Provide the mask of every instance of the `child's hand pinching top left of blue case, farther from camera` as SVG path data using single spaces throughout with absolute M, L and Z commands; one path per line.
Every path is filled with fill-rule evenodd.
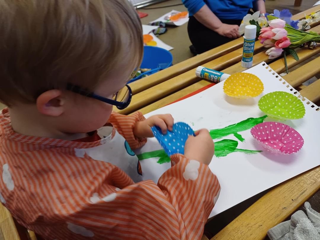
M 172 131 L 173 118 L 171 114 L 154 115 L 144 121 L 137 122 L 133 129 L 133 134 L 136 137 L 153 137 L 151 127 L 157 126 L 161 128 L 162 133 L 166 134 L 167 129 Z

